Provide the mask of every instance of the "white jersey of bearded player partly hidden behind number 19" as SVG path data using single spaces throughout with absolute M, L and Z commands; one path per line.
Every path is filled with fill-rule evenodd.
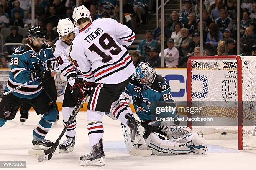
M 79 34 L 79 29 L 74 28 L 75 34 Z M 57 58 L 59 63 L 59 70 L 64 75 L 66 80 L 69 80 L 70 77 L 83 78 L 82 73 L 74 67 L 69 61 L 69 49 L 70 46 L 63 42 L 61 39 L 57 40 L 52 48 L 54 56 Z M 92 75 L 93 77 L 93 75 Z

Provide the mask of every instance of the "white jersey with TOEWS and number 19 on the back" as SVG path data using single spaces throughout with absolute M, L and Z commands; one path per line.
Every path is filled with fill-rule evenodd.
M 70 57 L 86 81 L 92 82 L 93 73 L 97 83 L 118 84 L 135 72 L 126 49 L 134 39 L 134 32 L 127 26 L 99 18 L 79 30 Z

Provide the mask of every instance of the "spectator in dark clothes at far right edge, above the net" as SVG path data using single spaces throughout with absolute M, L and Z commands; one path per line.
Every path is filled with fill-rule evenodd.
M 245 34 L 246 36 L 242 37 L 240 42 L 241 53 L 245 53 L 246 55 L 251 55 L 252 46 L 256 44 L 255 38 L 252 37 L 253 29 L 251 29 L 250 27 L 247 27 Z

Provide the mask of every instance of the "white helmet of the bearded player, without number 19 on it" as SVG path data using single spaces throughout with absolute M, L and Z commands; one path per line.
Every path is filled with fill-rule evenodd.
M 59 20 L 57 32 L 59 36 L 69 35 L 71 32 L 74 32 L 74 25 L 72 21 L 69 18 Z

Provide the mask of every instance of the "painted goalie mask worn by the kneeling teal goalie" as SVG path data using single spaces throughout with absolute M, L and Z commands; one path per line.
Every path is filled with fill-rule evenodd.
M 136 80 L 146 90 L 148 89 L 156 77 L 156 69 L 147 62 L 141 62 L 135 71 Z

